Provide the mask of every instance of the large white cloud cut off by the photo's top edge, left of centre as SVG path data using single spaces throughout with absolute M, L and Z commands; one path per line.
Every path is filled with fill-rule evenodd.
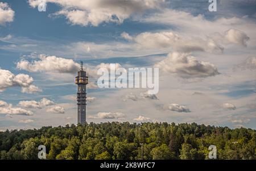
M 93 25 L 105 23 L 122 23 L 131 15 L 142 13 L 144 10 L 159 8 L 163 0 L 47 0 L 56 3 L 62 9 L 51 16 L 64 15 L 73 25 Z M 39 5 L 40 1 L 29 0 L 31 7 Z

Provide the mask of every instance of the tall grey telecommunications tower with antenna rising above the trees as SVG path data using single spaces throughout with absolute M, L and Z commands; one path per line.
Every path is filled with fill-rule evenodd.
M 77 123 L 84 125 L 86 122 L 86 84 L 88 84 L 88 76 L 83 69 L 81 61 L 81 69 L 77 72 Z

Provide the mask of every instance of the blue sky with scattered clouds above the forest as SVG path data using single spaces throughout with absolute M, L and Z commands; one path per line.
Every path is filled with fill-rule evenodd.
M 39 1 L 0 1 L 0 130 L 76 123 L 80 60 L 88 122 L 256 128 L 256 1 L 217 1 L 216 12 L 204 0 L 69 2 L 39 12 Z M 158 100 L 97 88 L 108 63 L 159 67 Z

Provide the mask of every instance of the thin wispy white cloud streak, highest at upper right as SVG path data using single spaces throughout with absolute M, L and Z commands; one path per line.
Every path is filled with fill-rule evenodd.
M 145 15 L 143 18 L 137 18 L 140 22 L 146 23 L 161 23 L 165 25 L 172 25 L 189 35 L 209 35 L 216 31 L 227 31 L 230 28 L 252 28 L 255 27 L 253 20 L 247 20 L 247 17 L 225 18 L 218 17 L 214 20 L 208 20 L 205 15 L 194 15 L 189 12 L 166 8 L 160 12 L 152 15 Z M 249 25 L 246 25 L 249 24 Z M 244 27 L 245 26 L 245 27 Z M 204 29 L 202 29 L 204 27 Z M 242 29 L 243 30 L 243 29 Z M 199 32 L 200 31 L 200 32 Z

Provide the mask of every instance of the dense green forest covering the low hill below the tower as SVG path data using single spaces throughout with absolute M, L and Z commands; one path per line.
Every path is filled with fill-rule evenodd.
M 0 159 L 256 159 L 256 131 L 196 123 L 106 122 L 0 132 Z

